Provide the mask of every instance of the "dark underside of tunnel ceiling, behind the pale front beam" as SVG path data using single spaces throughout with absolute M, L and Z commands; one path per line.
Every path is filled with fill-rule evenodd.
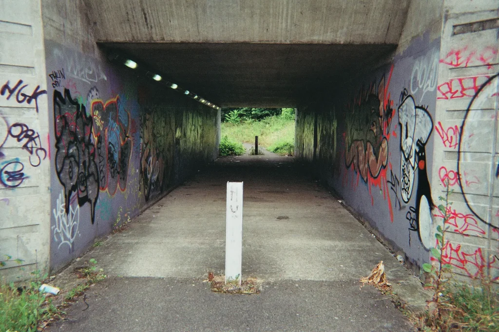
M 394 45 L 105 43 L 222 107 L 293 107 Z

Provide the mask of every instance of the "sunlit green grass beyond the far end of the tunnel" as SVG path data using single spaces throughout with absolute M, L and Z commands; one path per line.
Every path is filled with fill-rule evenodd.
M 282 116 L 272 116 L 261 121 L 246 121 L 240 124 L 224 122 L 221 124 L 222 137 L 241 143 L 254 143 L 258 136 L 258 145 L 265 148 L 278 143 L 294 142 L 294 120 Z

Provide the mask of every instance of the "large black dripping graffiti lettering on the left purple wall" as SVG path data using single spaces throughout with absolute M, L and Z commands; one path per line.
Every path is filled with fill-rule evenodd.
M 85 106 L 54 90 L 55 171 L 64 187 L 65 211 L 69 214 L 73 193 L 78 205 L 90 204 L 90 219 L 95 220 L 95 206 L 99 197 L 99 172 L 95 162 L 96 149 L 92 142 L 92 118 Z

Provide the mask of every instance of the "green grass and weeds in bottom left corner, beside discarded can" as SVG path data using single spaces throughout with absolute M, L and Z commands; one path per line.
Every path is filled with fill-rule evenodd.
M 0 331 L 36 331 L 40 322 L 59 315 L 52 299 L 39 291 L 47 275 L 40 277 L 39 271 L 32 274 L 34 280 L 27 287 L 0 280 Z

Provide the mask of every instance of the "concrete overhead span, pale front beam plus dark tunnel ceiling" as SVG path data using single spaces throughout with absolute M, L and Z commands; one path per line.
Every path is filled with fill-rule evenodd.
M 293 106 L 392 51 L 409 0 L 83 0 L 98 43 L 219 106 Z

